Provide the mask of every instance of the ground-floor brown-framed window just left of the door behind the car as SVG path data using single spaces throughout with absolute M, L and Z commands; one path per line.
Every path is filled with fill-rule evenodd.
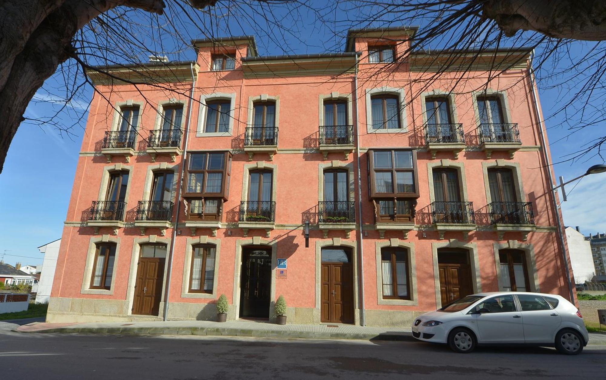
M 401 248 L 384 248 L 381 250 L 384 299 L 410 299 L 407 257 L 408 252 Z

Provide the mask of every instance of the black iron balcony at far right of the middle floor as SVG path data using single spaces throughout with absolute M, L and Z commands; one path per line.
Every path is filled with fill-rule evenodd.
M 490 224 L 503 240 L 505 232 L 521 232 L 522 240 L 536 229 L 534 212 L 530 202 L 493 202 L 488 206 Z

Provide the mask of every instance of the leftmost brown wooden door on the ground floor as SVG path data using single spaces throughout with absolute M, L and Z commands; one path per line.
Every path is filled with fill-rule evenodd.
M 164 260 L 161 257 L 139 258 L 133 314 L 158 315 L 162 298 Z

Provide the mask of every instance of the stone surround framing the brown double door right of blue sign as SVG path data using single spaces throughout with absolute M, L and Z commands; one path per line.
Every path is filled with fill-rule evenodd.
M 358 290 L 358 244 L 355 241 L 342 240 L 341 238 L 316 240 L 316 303 L 313 310 L 313 323 L 320 324 L 321 314 L 321 290 L 322 290 L 322 248 L 323 247 L 348 247 L 351 249 L 351 260 L 353 261 L 353 324 L 360 324 L 359 290 Z

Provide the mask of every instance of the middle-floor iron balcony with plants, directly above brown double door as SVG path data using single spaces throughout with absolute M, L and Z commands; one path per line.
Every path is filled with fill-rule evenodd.
M 318 226 L 324 232 L 324 238 L 330 230 L 345 231 L 345 237 L 349 238 L 351 231 L 356 229 L 355 202 L 318 202 Z

